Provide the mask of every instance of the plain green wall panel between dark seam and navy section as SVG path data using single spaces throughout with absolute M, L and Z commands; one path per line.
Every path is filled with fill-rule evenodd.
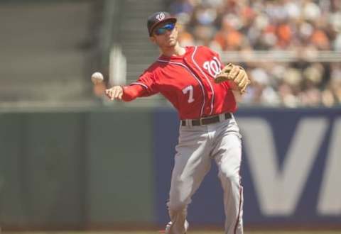
M 92 223 L 151 222 L 153 172 L 148 112 L 91 113 L 89 220 Z

